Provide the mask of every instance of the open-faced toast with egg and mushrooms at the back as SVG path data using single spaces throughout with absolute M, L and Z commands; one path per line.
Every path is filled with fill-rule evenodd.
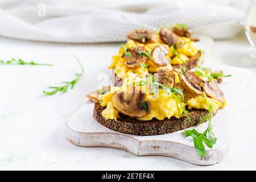
M 146 77 L 159 69 L 186 67 L 192 69 L 203 57 L 203 51 L 194 44 L 198 39 L 184 24 L 176 24 L 159 31 L 134 30 L 127 34 L 127 42 L 113 56 L 110 69 L 114 69 L 114 82 L 131 76 Z M 119 84 L 121 85 L 121 84 Z

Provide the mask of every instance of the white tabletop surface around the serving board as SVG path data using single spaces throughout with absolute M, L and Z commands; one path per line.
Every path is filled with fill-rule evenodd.
M 119 44 L 51 44 L 0 38 L 0 59 L 13 57 L 55 67 L 0 66 L 0 169 L 256 169 L 256 75 L 238 98 L 228 155 L 213 166 L 195 166 L 163 156 L 135 156 L 113 148 L 83 148 L 64 136 L 67 119 L 86 102 L 86 61 L 108 61 Z M 216 61 L 256 72 L 247 60 L 249 43 L 243 34 L 214 43 Z M 42 91 L 73 78 L 80 57 L 85 74 L 65 94 L 44 97 Z

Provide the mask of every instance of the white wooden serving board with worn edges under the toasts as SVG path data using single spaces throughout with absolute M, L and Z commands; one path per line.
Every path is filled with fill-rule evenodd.
M 208 63 L 205 65 L 206 67 L 210 67 L 213 70 L 222 69 L 224 73 L 233 76 L 224 78 L 224 81 L 221 83 L 221 88 L 226 96 L 227 106 L 219 110 L 212 119 L 213 131 L 217 137 L 217 142 L 213 148 L 207 148 L 207 156 L 205 158 L 201 158 L 197 154 L 193 147 L 192 138 L 185 138 L 183 131 L 164 135 L 137 136 L 110 130 L 93 118 L 92 102 L 87 102 L 68 120 L 67 130 L 65 131 L 67 139 L 71 143 L 82 147 L 112 147 L 138 156 L 170 156 L 185 162 L 204 166 L 220 162 L 224 159 L 229 149 L 232 106 L 235 104 L 238 90 L 249 81 L 250 73 L 246 72 L 247 70 L 245 69 L 215 64 L 214 60 L 208 59 L 206 62 Z M 91 82 L 95 84 L 97 81 L 91 80 Z M 93 90 L 88 90 L 88 92 L 91 91 Z M 193 128 L 198 131 L 204 131 L 207 126 L 208 122 Z

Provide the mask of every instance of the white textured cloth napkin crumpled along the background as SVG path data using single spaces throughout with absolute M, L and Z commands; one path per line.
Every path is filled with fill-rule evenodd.
M 135 28 L 157 30 L 178 22 L 213 39 L 231 38 L 241 30 L 242 2 L 1 0 L 0 35 L 44 42 L 122 42 Z

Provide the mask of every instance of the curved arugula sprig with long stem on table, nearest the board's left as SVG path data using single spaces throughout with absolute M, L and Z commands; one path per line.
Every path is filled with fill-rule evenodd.
M 77 81 L 79 81 L 80 77 L 82 76 L 82 74 L 84 73 L 84 67 L 82 67 L 82 64 L 80 63 L 79 59 L 75 56 L 77 62 L 79 63 L 82 72 L 80 74 L 75 73 L 76 78 L 72 81 L 65 81 L 65 82 L 61 82 L 61 84 L 64 84 L 63 86 L 49 86 L 49 89 L 53 89 L 52 91 L 43 91 L 43 93 L 46 96 L 52 96 L 53 94 L 56 94 L 57 92 L 62 92 L 65 93 L 67 92 L 69 86 L 71 87 L 71 89 L 73 89 L 74 85 L 77 83 Z

